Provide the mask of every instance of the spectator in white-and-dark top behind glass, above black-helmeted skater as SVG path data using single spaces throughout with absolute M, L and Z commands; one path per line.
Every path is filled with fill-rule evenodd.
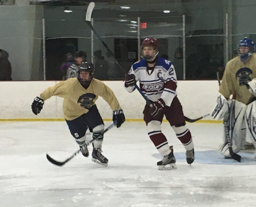
M 87 54 L 84 51 L 75 52 L 74 61 L 72 65 L 67 69 L 67 79 L 68 78 L 76 78 L 77 77 L 77 71 L 79 70 L 79 65 L 82 64 L 83 61 L 86 61 Z

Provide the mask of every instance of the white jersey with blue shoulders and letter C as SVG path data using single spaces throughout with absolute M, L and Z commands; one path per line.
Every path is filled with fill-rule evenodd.
M 177 95 L 177 78 L 173 64 L 166 59 L 158 57 L 155 69 L 151 73 L 147 70 L 147 61 L 140 60 L 130 68 L 129 74 L 134 74 L 136 81 L 140 83 L 143 94 L 151 100 L 163 99 L 170 106 L 173 98 Z M 133 92 L 135 86 L 126 87 L 128 92 Z

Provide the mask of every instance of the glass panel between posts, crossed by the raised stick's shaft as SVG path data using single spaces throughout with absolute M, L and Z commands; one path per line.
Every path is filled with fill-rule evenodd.
M 111 51 L 94 36 L 95 78 L 124 79 L 132 63 L 138 60 L 137 18 L 93 18 L 93 27 Z

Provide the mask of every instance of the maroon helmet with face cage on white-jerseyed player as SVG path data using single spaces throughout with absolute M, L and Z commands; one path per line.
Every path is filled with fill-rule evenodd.
M 151 55 L 145 55 L 143 53 L 143 48 L 144 47 L 153 47 L 153 49 L 155 50 L 155 54 L 152 57 Z M 158 55 L 158 47 L 159 47 L 159 43 L 158 40 L 155 38 L 146 38 L 142 41 L 142 46 L 140 47 L 140 53 L 141 53 L 141 57 L 147 61 L 152 61 L 156 58 L 156 55 Z

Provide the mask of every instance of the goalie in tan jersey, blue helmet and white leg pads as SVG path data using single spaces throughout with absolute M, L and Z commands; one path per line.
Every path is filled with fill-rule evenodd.
M 244 38 L 237 48 L 238 56 L 230 60 L 224 71 L 220 85 L 217 105 L 212 116 L 215 120 L 223 118 L 225 124 L 223 143 L 219 152 L 230 156 L 227 133 L 231 147 L 237 153 L 244 146 L 246 131 L 256 146 L 256 54 L 254 42 Z M 229 97 L 236 94 L 236 100 Z M 256 153 L 255 153 L 256 155 Z

